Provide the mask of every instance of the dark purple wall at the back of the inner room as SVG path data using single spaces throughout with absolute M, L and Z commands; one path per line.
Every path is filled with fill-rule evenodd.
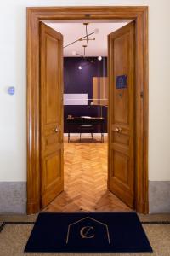
M 94 61 L 94 62 L 91 62 Z M 78 69 L 79 66 L 82 69 Z M 81 57 L 64 58 L 64 93 L 88 93 L 88 99 L 93 98 L 93 77 L 107 76 L 107 59 L 98 61 L 97 58 Z M 69 114 L 72 116 L 100 116 L 100 106 L 64 106 L 64 132 L 68 132 L 66 118 Z M 107 131 L 107 108 L 102 107 L 103 117 L 105 117 L 104 132 Z M 76 127 L 71 132 L 77 132 Z M 94 132 L 98 132 L 96 130 Z

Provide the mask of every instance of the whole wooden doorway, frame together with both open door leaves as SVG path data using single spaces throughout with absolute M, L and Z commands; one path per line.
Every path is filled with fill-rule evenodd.
M 108 12 L 105 13 L 105 10 Z M 65 20 L 65 12 L 67 19 L 71 21 L 73 17 L 79 21 L 84 20 L 85 17 L 91 17 L 92 20 L 127 19 L 128 22 L 134 20 L 122 30 L 111 33 L 108 38 L 108 187 L 130 207 L 138 212 L 147 212 L 147 8 L 115 9 L 111 7 L 103 9 L 28 9 L 27 212 L 39 211 L 41 207 L 49 203 L 51 196 L 59 194 L 63 188 L 63 38 L 54 29 L 48 30 L 48 26 L 44 25 L 43 22 L 46 20 Z M 91 22 L 90 19 L 88 22 Z M 141 43 L 143 43 L 142 47 Z M 121 47 L 119 47 L 120 45 Z M 116 55 L 117 51 L 119 52 L 118 55 Z M 142 52 L 143 55 L 141 55 Z M 56 70 L 51 67 L 56 68 Z M 139 73 L 139 67 L 140 72 L 143 70 L 143 73 Z M 82 68 L 78 69 L 82 71 Z M 53 72 L 54 75 L 50 75 Z M 141 92 L 140 82 L 142 80 L 146 84 L 142 84 L 144 87 Z M 47 84 L 52 86 L 47 87 Z M 54 90 L 56 89 L 54 84 L 58 86 L 57 92 Z M 99 84 L 98 81 L 96 84 Z M 58 102 L 55 107 L 53 105 L 54 99 L 57 99 Z M 95 101 L 99 101 L 99 98 L 94 99 L 92 97 L 90 101 L 89 109 L 95 106 Z M 101 104 L 99 105 L 100 118 L 103 118 L 101 115 L 101 113 L 103 114 L 103 107 Z M 55 120 L 53 119 L 53 112 L 57 113 L 57 111 L 59 113 Z M 81 117 L 86 120 L 89 117 L 92 118 L 86 114 L 82 114 Z M 72 114 L 68 114 L 67 118 L 71 119 Z M 87 138 L 83 138 L 83 140 L 85 139 Z M 102 136 L 101 139 L 103 140 Z M 135 151 L 134 148 L 138 148 L 138 150 Z M 53 170 L 54 166 L 58 166 L 57 173 L 56 169 L 55 174 L 48 172 Z M 86 209 L 82 207 L 82 210 Z M 93 210 L 98 209 L 94 208 Z

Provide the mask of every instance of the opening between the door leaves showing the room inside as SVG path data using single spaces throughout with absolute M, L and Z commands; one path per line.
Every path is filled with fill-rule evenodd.
M 108 188 L 107 38 L 131 21 L 54 21 L 44 24 L 63 37 L 64 187 L 43 211 L 130 211 Z

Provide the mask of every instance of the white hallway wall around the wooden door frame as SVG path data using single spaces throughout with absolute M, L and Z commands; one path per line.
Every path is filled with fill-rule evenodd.
M 26 6 L 148 5 L 150 180 L 170 180 L 169 0 L 5 0 L 0 11 L 0 181 L 26 181 Z M 15 86 L 14 96 L 7 94 Z

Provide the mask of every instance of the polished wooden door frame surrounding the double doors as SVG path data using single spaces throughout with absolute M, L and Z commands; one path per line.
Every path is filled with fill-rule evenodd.
M 148 213 L 148 7 L 88 6 L 27 8 L 27 213 L 40 210 L 41 20 L 135 20 L 135 202 Z

